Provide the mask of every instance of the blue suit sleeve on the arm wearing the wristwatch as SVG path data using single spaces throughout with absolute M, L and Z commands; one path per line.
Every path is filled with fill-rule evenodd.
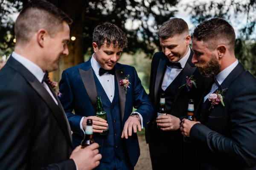
M 136 108 L 136 112 L 140 113 L 143 117 L 143 126 L 145 127 L 153 117 L 154 105 L 145 92 L 135 68 L 134 75 L 134 108 Z

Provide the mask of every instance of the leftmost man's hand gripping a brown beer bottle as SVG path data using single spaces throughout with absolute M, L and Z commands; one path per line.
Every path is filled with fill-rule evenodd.
M 76 147 L 70 155 L 70 159 L 76 162 L 79 170 L 92 170 L 99 165 L 102 155 L 99 154 L 99 144 L 93 143 L 84 149 L 81 145 Z

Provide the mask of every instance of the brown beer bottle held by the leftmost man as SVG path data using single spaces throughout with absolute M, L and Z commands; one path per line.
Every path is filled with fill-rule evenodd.
M 84 139 L 81 142 L 82 148 L 87 147 L 88 145 L 94 143 L 93 139 L 93 120 L 87 119 Z

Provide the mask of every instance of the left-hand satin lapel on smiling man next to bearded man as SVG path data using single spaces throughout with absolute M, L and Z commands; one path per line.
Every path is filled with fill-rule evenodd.
M 166 60 L 160 59 L 158 67 L 157 67 L 156 81 L 155 81 L 155 86 L 154 86 L 154 100 L 155 100 L 154 103 L 155 103 L 155 105 L 158 105 L 158 102 L 159 102 L 159 101 L 157 101 L 157 99 L 158 99 L 157 96 L 161 89 L 161 80 L 162 80 L 162 77 L 164 76 L 165 68 L 166 68 Z

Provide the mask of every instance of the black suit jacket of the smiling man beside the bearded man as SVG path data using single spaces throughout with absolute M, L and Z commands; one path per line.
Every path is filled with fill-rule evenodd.
M 179 84 L 175 89 L 175 96 L 173 97 L 172 102 L 172 109 L 167 111 L 168 114 L 172 114 L 176 117 L 179 117 L 180 119 L 185 118 L 187 115 L 187 108 L 188 108 L 188 102 L 189 99 L 194 99 L 195 102 L 195 108 L 198 105 L 198 102 L 201 98 L 201 95 L 203 93 L 203 82 L 205 79 L 201 77 L 199 74 L 198 68 L 195 67 L 194 64 L 192 64 L 191 59 L 193 57 L 193 51 L 191 50 L 189 59 L 186 62 L 185 67 L 180 72 L 181 76 L 179 79 Z M 151 97 L 152 101 L 154 102 L 154 105 L 157 107 L 159 105 L 160 100 L 160 90 L 163 82 L 163 77 L 166 71 L 166 55 L 163 52 L 157 52 L 154 54 L 152 62 L 151 62 L 151 74 L 150 74 L 150 85 L 149 85 L 149 96 Z M 190 91 L 187 91 L 187 88 L 183 86 L 182 88 L 179 88 L 180 86 L 184 85 L 186 83 L 186 77 L 190 77 L 191 75 L 194 75 L 194 79 L 196 80 L 197 88 L 194 86 L 190 89 Z M 159 135 L 155 134 L 155 131 L 157 129 L 155 119 L 157 117 L 157 111 L 154 113 L 153 120 L 148 123 L 148 126 L 146 127 L 146 142 L 151 142 L 151 139 L 155 140 L 155 136 Z M 181 131 L 174 130 L 169 132 L 163 132 L 166 133 L 165 137 L 166 139 L 173 139 L 173 138 L 179 138 L 178 143 L 183 142 L 183 136 L 181 135 Z M 169 141 L 165 141 L 169 142 Z M 175 142 L 174 144 L 176 144 Z M 175 146 L 175 145 L 173 145 Z

